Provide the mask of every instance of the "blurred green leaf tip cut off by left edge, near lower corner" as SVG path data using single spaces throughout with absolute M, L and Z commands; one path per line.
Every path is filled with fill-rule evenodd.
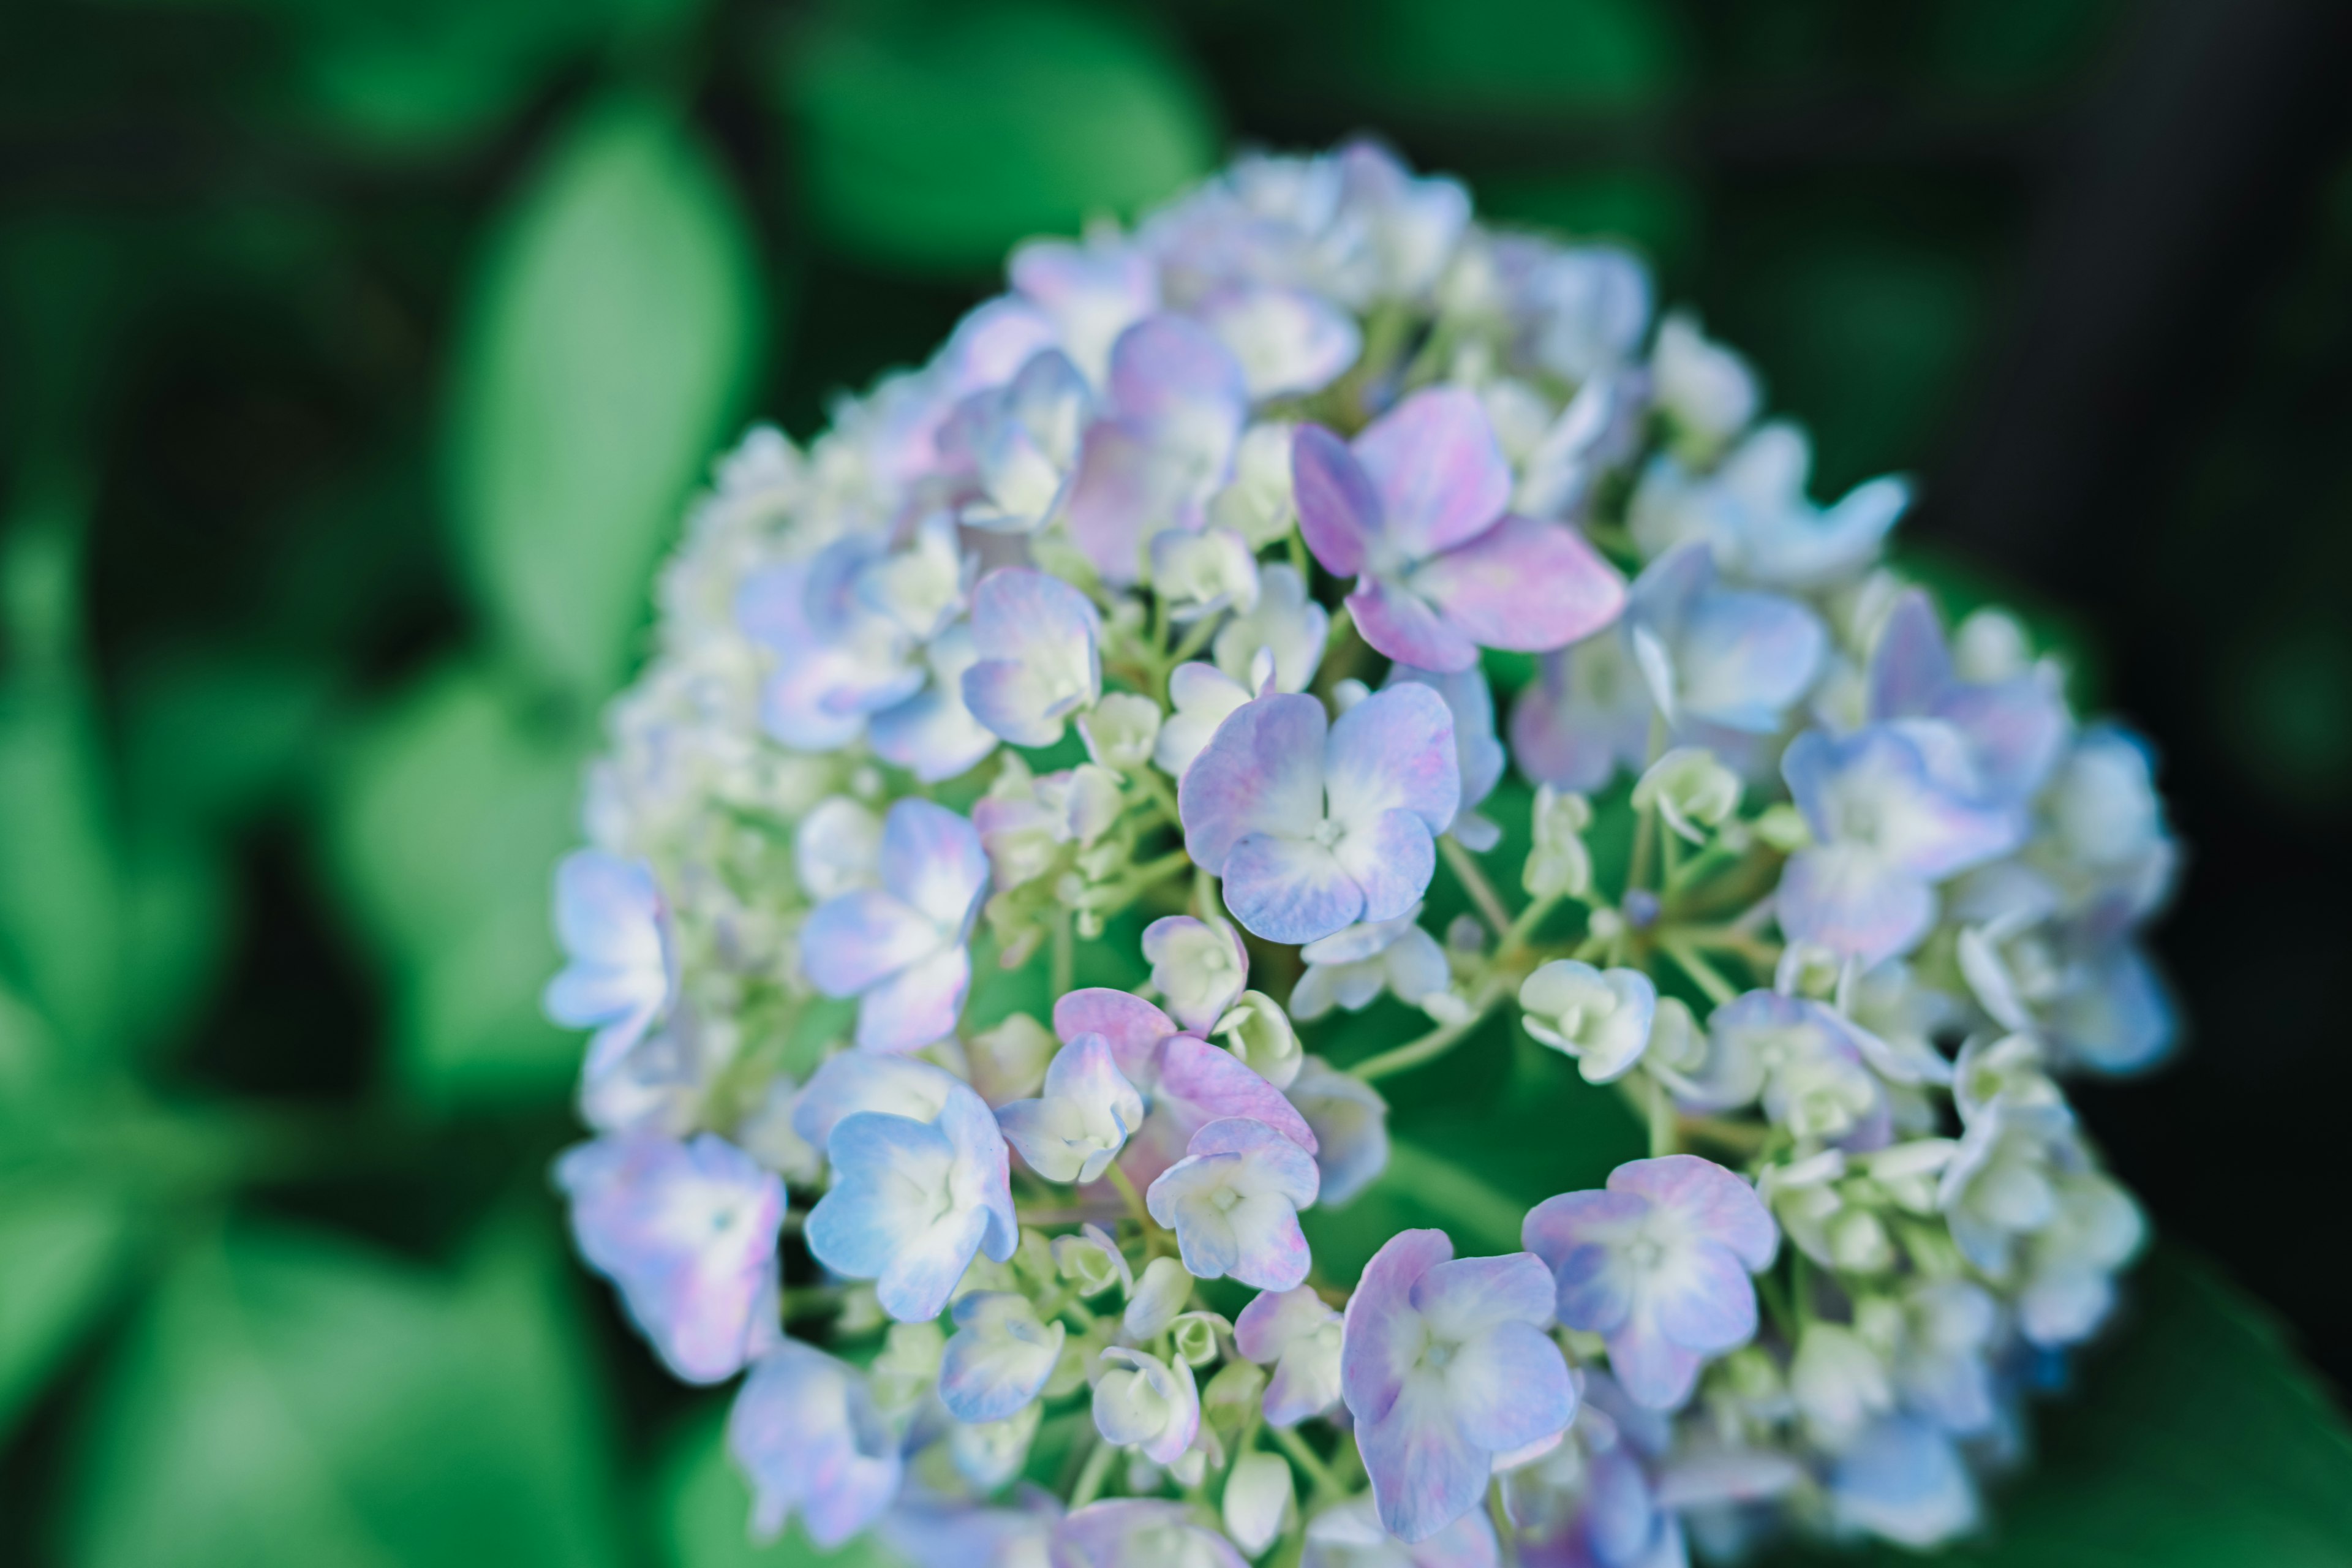
M 0 1436 L 113 1298 L 132 1213 L 101 1182 L 0 1187 Z

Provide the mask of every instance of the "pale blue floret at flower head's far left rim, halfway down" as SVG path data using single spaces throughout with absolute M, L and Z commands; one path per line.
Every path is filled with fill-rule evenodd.
M 677 994 L 670 907 L 647 865 L 579 849 L 555 867 L 555 938 L 569 961 L 541 1006 L 569 1030 L 595 1030 L 581 1072 L 593 1086 Z

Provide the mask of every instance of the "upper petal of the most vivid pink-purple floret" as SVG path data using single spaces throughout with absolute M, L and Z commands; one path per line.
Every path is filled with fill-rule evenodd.
M 1510 461 L 1477 395 L 1458 386 L 1414 393 L 1371 421 L 1355 437 L 1355 458 L 1371 475 L 1388 543 L 1404 559 L 1477 538 L 1510 505 Z

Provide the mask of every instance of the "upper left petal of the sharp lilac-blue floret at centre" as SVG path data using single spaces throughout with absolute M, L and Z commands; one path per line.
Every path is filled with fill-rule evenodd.
M 1242 703 L 1176 785 L 1185 853 L 1211 877 L 1249 835 L 1310 837 L 1324 806 L 1324 705 L 1305 693 Z

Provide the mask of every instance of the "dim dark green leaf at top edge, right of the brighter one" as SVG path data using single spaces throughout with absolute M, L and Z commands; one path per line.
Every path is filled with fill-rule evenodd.
M 1374 0 L 1343 14 L 1343 47 L 1406 101 L 1613 110 L 1686 75 L 1672 9 L 1644 0 Z

